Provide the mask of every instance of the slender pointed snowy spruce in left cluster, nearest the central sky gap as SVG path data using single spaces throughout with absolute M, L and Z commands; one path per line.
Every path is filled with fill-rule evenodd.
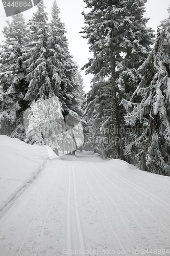
M 50 23 L 50 37 L 47 40 L 48 48 L 48 59 L 47 65 L 49 76 L 52 83 L 52 88 L 55 94 L 59 97 L 62 104 L 63 116 L 75 117 L 80 122 L 84 123 L 83 112 L 82 112 L 82 80 L 80 79 L 80 73 L 77 64 L 72 60 L 72 56 L 68 50 L 68 40 L 65 36 L 65 26 L 61 22 L 59 17 L 60 10 L 57 6 L 56 0 L 52 6 L 52 20 Z M 69 121 L 73 120 L 68 118 Z M 70 127 L 74 126 L 75 123 L 69 123 Z M 68 133 L 69 126 L 66 123 L 66 132 Z M 63 141 L 63 145 L 68 144 L 71 148 L 70 135 L 63 136 L 63 139 L 68 137 L 68 143 Z M 67 147 L 67 151 L 68 150 Z

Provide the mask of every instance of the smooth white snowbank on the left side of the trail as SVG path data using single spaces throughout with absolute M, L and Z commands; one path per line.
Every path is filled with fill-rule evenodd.
M 50 147 L 0 136 L 0 210 L 55 157 Z

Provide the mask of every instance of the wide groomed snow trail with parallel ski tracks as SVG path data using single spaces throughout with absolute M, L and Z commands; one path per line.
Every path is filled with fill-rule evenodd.
M 0 212 L 1 256 L 170 255 L 169 177 L 92 159 L 49 161 Z

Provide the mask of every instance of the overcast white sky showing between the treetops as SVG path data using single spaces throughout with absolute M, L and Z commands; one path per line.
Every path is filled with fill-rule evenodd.
M 4 1 L 4 0 L 3 0 Z M 18 0 L 19 1 L 19 0 Z M 8 2 L 8 0 L 6 0 Z M 51 13 L 51 5 L 53 0 L 44 0 L 44 5 L 46 6 L 46 11 L 48 14 Z M 67 31 L 67 38 L 69 41 L 69 50 L 74 60 L 77 61 L 80 67 L 88 61 L 91 54 L 88 52 L 87 40 L 81 37 L 79 33 L 81 27 L 83 27 L 83 16 L 81 12 L 83 11 L 85 4 L 83 0 L 57 0 L 57 4 L 60 8 L 60 17 L 63 23 L 65 23 L 65 29 Z M 160 24 L 160 20 L 168 17 L 167 8 L 169 6 L 169 0 L 148 0 L 146 4 L 145 16 L 150 17 L 148 26 L 157 30 L 157 26 Z M 36 7 L 23 12 L 26 19 L 31 18 L 32 14 L 36 11 Z M 3 34 L 1 31 L 5 26 L 5 20 L 10 19 L 5 16 L 5 11 L 3 8 L 2 1 L 0 1 L 0 39 L 3 39 Z M 91 75 L 85 75 L 82 71 L 82 76 L 84 79 L 85 91 L 90 90 L 90 80 Z

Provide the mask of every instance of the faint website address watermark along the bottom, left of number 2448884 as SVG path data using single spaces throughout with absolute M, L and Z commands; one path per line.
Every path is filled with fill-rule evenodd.
M 79 249 L 79 250 L 67 250 L 63 249 L 62 251 L 63 255 L 130 255 L 132 252 L 130 250 L 105 250 L 101 248 L 97 249 L 91 249 L 91 250 L 85 250 L 85 249 Z

